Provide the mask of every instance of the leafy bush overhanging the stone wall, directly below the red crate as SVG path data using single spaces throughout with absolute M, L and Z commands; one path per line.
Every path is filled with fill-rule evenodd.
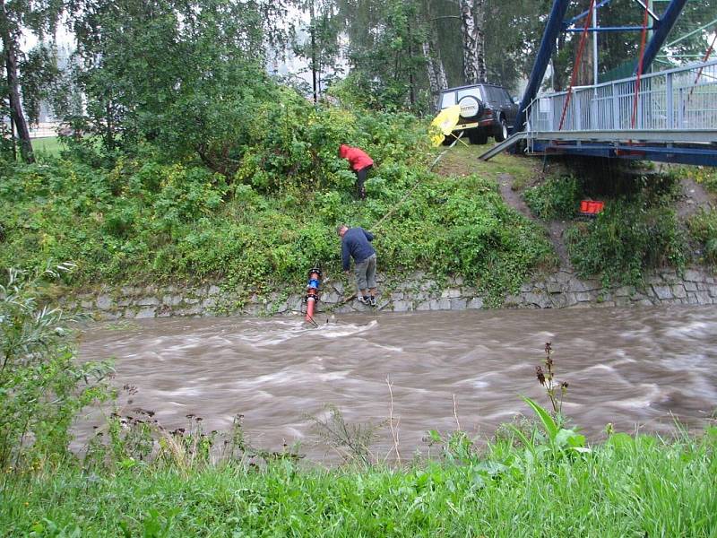
M 590 223 L 566 230 L 570 259 L 583 276 L 639 284 L 645 269 L 686 263 L 686 243 L 675 212 L 615 200 Z

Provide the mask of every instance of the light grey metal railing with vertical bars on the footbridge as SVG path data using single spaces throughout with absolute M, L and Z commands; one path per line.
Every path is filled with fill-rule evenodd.
M 701 72 L 700 72 L 701 70 Z M 717 128 L 717 60 L 636 77 L 576 87 L 563 120 L 567 92 L 542 95 L 527 110 L 527 131 L 650 131 Z

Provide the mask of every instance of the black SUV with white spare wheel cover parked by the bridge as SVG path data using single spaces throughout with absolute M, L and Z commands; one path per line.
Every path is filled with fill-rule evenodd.
M 487 143 L 488 136 L 496 142 L 508 137 L 508 126 L 513 126 L 518 105 L 503 86 L 497 84 L 471 84 L 448 88 L 441 92 L 441 109 L 461 105 L 461 118 L 454 131 L 463 131 L 471 143 Z

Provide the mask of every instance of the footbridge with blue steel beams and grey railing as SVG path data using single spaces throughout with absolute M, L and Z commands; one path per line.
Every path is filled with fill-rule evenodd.
M 685 1 L 672 0 L 653 22 L 657 30 L 634 76 L 591 86 L 571 83 L 567 91 L 536 96 L 557 32 L 564 29 L 566 1 L 556 0 L 514 134 L 481 159 L 524 141 L 521 147 L 531 154 L 717 166 L 717 59 L 707 61 L 712 50 L 702 62 L 644 74 Z

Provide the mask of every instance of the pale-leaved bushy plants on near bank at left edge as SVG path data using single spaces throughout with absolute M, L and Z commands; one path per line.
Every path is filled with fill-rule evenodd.
M 66 456 L 75 413 L 107 395 L 100 381 L 108 365 L 76 363 L 67 320 L 61 310 L 39 306 L 38 285 L 14 270 L 0 285 L 2 471 Z

